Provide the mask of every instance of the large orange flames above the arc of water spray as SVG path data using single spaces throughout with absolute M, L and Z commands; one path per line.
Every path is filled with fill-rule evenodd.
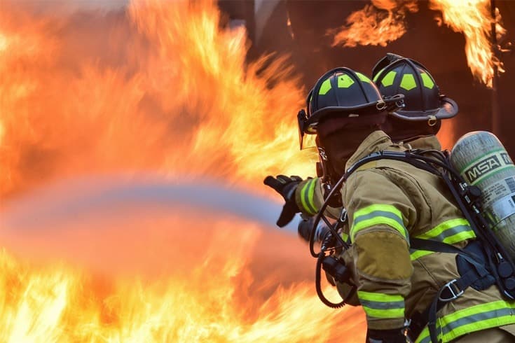
M 316 155 L 298 151 L 298 77 L 284 57 L 247 65 L 245 31 L 219 29 L 210 1 L 132 1 L 100 42 L 12 7 L 0 19 L 0 195 L 141 169 L 246 184 L 314 174 Z

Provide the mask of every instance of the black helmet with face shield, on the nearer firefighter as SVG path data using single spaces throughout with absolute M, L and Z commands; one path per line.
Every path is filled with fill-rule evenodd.
M 403 96 L 383 99 L 376 85 L 364 74 L 345 67 L 331 69 L 308 94 L 308 113 L 298 113 L 301 133 L 316 134 L 327 118 L 347 118 L 387 113 L 402 106 Z

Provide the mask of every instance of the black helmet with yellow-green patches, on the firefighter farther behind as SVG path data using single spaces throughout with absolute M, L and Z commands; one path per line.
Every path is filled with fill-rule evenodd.
M 390 64 L 387 64 L 388 61 Z M 382 69 L 380 69 L 382 67 Z M 425 66 L 390 54 L 383 57 L 373 68 L 373 82 L 383 97 L 404 94 L 404 108 L 390 113 L 402 120 L 427 120 L 434 125 L 439 119 L 452 118 L 458 113 L 458 104 L 441 95 Z

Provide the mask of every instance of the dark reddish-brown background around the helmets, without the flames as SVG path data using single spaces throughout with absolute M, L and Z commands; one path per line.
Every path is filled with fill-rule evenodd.
M 371 73 L 373 64 L 386 52 L 423 63 L 437 80 L 441 92 L 455 99 L 460 113 L 453 118 L 455 137 L 474 130 L 495 131 L 515 158 L 515 52 L 500 53 L 505 72 L 495 90 L 475 80 L 467 66 L 465 36 L 445 25 L 438 26 L 436 13 L 427 1 L 419 1 L 417 13 L 406 15 L 407 32 L 387 46 L 331 47 L 329 29 L 341 27 L 345 18 L 364 6 L 364 1 L 325 0 L 219 0 L 230 25 L 245 25 L 252 41 L 248 58 L 265 52 L 291 55 L 291 63 L 303 76 L 306 88 L 334 66 L 350 66 Z M 497 0 L 507 34 L 500 45 L 515 42 L 515 1 Z M 297 109 L 291 109 L 294 116 Z M 497 130 L 493 127 L 497 116 Z

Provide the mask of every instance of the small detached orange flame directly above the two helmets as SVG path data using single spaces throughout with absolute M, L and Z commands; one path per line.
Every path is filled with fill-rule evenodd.
M 406 12 L 416 12 L 416 1 L 372 0 L 362 10 L 351 13 L 346 25 L 329 31 L 334 34 L 333 46 L 380 45 L 397 40 L 406 33 Z

